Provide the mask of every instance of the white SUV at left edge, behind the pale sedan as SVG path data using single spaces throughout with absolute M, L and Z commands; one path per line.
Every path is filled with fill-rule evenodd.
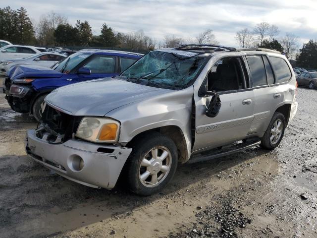
M 41 53 L 33 46 L 7 45 L 0 48 L 0 61 L 6 59 L 26 58 Z

